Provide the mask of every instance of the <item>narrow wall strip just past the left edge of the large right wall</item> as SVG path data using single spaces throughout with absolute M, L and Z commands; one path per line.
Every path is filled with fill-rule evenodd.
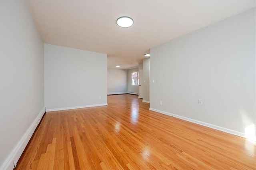
M 143 82 L 142 82 L 142 88 L 143 88 L 143 102 L 150 102 L 150 58 L 145 58 L 143 60 Z

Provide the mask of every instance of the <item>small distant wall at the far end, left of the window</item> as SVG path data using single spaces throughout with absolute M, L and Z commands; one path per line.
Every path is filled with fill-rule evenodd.
M 127 93 L 127 70 L 108 68 L 108 94 Z

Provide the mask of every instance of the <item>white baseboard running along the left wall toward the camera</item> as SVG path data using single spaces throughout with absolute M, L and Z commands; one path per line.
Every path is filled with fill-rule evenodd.
M 42 117 L 44 116 L 44 113 L 45 113 L 45 107 L 41 110 L 41 112 L 38 114 L 34 122 L 30 125 L 30 127 L 22 136 L 18 144 L 14 147 L 10 155 L 4 161 L 4 163 L 0 167 L 0 170 L 13 170 L 13 168 L 15 168 L 22 152 L 26 148 L 30 138 L 32 137 L 34 131 L 36 130 L 36 126 L 40 123 Z

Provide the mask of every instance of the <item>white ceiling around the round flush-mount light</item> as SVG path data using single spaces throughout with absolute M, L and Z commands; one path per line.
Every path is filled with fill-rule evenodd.
M 254 0 L 28 0 L 44 43 L 108 54 L 138 66 L 150 48 L 256 6 Z M 121 28 L 120 16 L 134 24 Z

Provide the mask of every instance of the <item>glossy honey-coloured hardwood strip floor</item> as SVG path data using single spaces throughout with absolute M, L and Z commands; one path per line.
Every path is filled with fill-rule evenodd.
M 254 142 L 148 109 L 122 94 L 47 112 L 15 170 L 256 169 Z

